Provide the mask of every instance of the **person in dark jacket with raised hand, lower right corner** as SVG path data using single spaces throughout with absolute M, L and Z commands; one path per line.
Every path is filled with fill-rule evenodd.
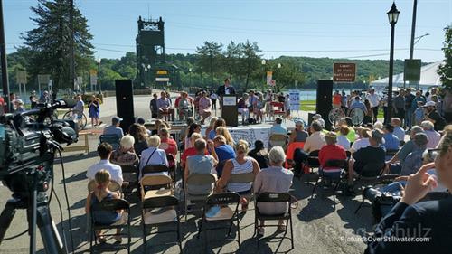
M 419 202 L 438 183 L 452 190 L 452 133 L 447 131 L 438 146 L 434 163 L 410 174 L 400 202 L 376 226 L 364 253 L 449 253 L 452 249 L 452 195 Z M 435 168 L 437 175 L 428 170 Z M 404 240 L 381 240 L 411 239 Z M 423 240 L 418 239 L 421 238 Z M 415 241 L 412 241 L 414 239 Z

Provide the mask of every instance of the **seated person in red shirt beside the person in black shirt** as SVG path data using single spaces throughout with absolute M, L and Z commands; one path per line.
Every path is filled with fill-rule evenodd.
M 345 160 L 347 159 L 347 155 L 342 146 L 336 145 L 337 143 L 337 135 L 334 132 L 328 132 L 325 135 L 326 146 L 323 146 L 318 153 L 318 160 L 320 162 L 320 166 L 325 173 L 330 172 L 340 172 L 340 168 L 332 168 L 325 166 L 325 163 L 328 160 Z

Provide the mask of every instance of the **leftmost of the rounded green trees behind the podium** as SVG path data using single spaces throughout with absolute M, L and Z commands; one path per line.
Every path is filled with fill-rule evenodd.
M 213 85 L 213 73 L 220 68 L 221 49 L 223 44 L 219 42 L 204 42 L 201 47 L 196 47 L 196 53 L 199 54 L 200 64 L 211 74 L 211 86 Z

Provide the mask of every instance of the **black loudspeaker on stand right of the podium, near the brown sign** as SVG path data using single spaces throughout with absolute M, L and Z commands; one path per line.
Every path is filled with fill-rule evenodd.
M 333 108 L 333 80 L 317 80 L 317 100 L 315 104 L 317 114 L 325 120 L 325 128 L 330 129 L 328 114 Z

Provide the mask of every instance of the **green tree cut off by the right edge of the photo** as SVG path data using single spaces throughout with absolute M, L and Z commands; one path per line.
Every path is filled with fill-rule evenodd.
M 446 40 L 444 41 L 444 64 L 438 68 L 438 74 L 443 86 L 452 89 L 452 24 L 444 29 Z

